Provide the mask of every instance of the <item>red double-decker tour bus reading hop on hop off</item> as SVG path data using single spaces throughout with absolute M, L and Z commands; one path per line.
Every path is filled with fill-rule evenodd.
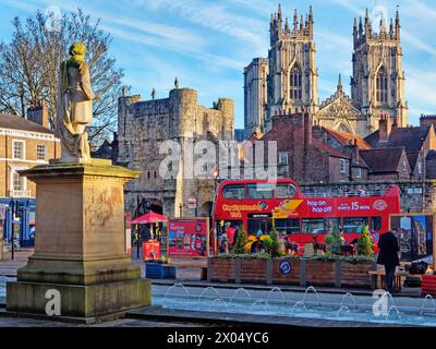
M 389 228 L 389 215 L 398 213 L 398 185 L 385 192 L 311 197 L 291 179 L 227 180 L 217 192 L 214 227 L 219 231 L 226 224 L 243 225 L 249 234 L 259 234 L 269 233 L 274 225 L 288 240 L 304 245 L 314 236 L 323 242 L 336 226 L 348 243 L 354 243 L 364 225 L 378 241 L 379 233 Z

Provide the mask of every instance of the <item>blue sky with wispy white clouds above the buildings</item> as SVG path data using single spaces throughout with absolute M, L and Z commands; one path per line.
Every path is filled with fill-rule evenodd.
M 434 0 L 293 0 L 282 1 L 283 15 L 294 8 L 314 9 L 319 97 L 330 96 L 338 73 L 349 93 L 352 74 L 353 17 L 365 8 L 383 5 L 393 16 L 400 5 L 403 70 L 409 121 L 436 113 L 436 9 Z M 9 41 L 10 21 L 36 9 L 57 5 L 61 12 L 82 8 L 111 33 L 111 55 L 124 69 L 132 93 L 168 96 L 174 76 L 181 87 L 198 91 L 198 101 L 211 106 L 218 97 L 235 101 L 235 124 L 243 127 L 243 68 L 254 57 L 267 57 L 269 17 L 278 1 L 269 0 L 0 0 L 0 39 Z

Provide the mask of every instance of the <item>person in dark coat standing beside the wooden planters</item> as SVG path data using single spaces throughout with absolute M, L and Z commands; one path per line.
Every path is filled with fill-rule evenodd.
M 391 230 L 380 234 L 378 248 L 380 251 L 378 253 L 377 264 L 385 265 L 387 291 L 391 292 L 393 289 L 396 268 L 397 265 L 400 265 L 400 260 L 398 257 L 400 248 L 397 237 Z

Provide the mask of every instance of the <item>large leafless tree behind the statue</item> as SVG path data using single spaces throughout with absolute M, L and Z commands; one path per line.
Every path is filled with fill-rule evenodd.
M 93 89 L 100 95 L 94 101 L 89 142 L 97 145 L 108 137 L 117 128 L 123 71 L 116 68 L 116 59 L 109 55 L 110 34 L 99 28 L 99 20 L 92 22 L 80 9 L 59 19 L 40 11 L 25 23 L 15 17 L 11 41 L 0 44 L 0 111 L 24 117 L 27 107 L 45 98 L 53 125 L 60 63 L 74 41 L 83 41 Z

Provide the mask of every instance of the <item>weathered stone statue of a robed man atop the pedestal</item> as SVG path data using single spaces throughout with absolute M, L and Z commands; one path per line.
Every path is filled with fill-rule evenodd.
M 90 87 L 85 45 L 74 43 L 71 58 L 61 63 L 56 116 L 56 133 L 61 140 L 62 163 L 90 159 L 86 125 L 93 121 L 93 99 L 99 96 Z

